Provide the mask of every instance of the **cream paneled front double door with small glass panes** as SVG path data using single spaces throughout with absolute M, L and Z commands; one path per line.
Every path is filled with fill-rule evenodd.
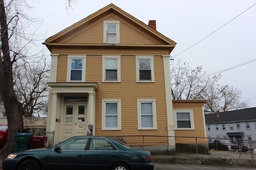
M 86 135 L 86 104 L 64 104 L 64 140 Z

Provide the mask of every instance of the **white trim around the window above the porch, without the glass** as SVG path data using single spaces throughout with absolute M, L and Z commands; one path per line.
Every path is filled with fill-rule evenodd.
M 70 80 L 71 76 L 71 59 L 83 59 L 82 80 Z M 68 55 L 67 82 L 85 82 L 86 55 Z

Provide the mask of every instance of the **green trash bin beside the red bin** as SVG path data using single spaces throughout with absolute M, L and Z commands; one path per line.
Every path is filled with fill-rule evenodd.
M 30 149 L 30 140 L 32 136 L 34 136 L 32 133 L 16 133 L 14 136 L 14 152 Z

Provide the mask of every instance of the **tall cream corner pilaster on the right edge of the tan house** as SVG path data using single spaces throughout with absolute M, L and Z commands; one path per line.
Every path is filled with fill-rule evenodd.
M 164 84 L 165 84 L 168 136 L 175 136 L 175 134 L 174 134 L 174 117 L 173 117 L 173 108 L 172 108 L 170 60 L 169 60 L 170 55 L 162 55 L 162 57 L 164 60 Z

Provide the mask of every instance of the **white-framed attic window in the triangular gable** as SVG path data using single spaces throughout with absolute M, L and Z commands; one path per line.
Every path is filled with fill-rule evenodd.
M 120 21 L 103 21 L 103 43 L 116 44 L 120 43 L 119 27 Z

